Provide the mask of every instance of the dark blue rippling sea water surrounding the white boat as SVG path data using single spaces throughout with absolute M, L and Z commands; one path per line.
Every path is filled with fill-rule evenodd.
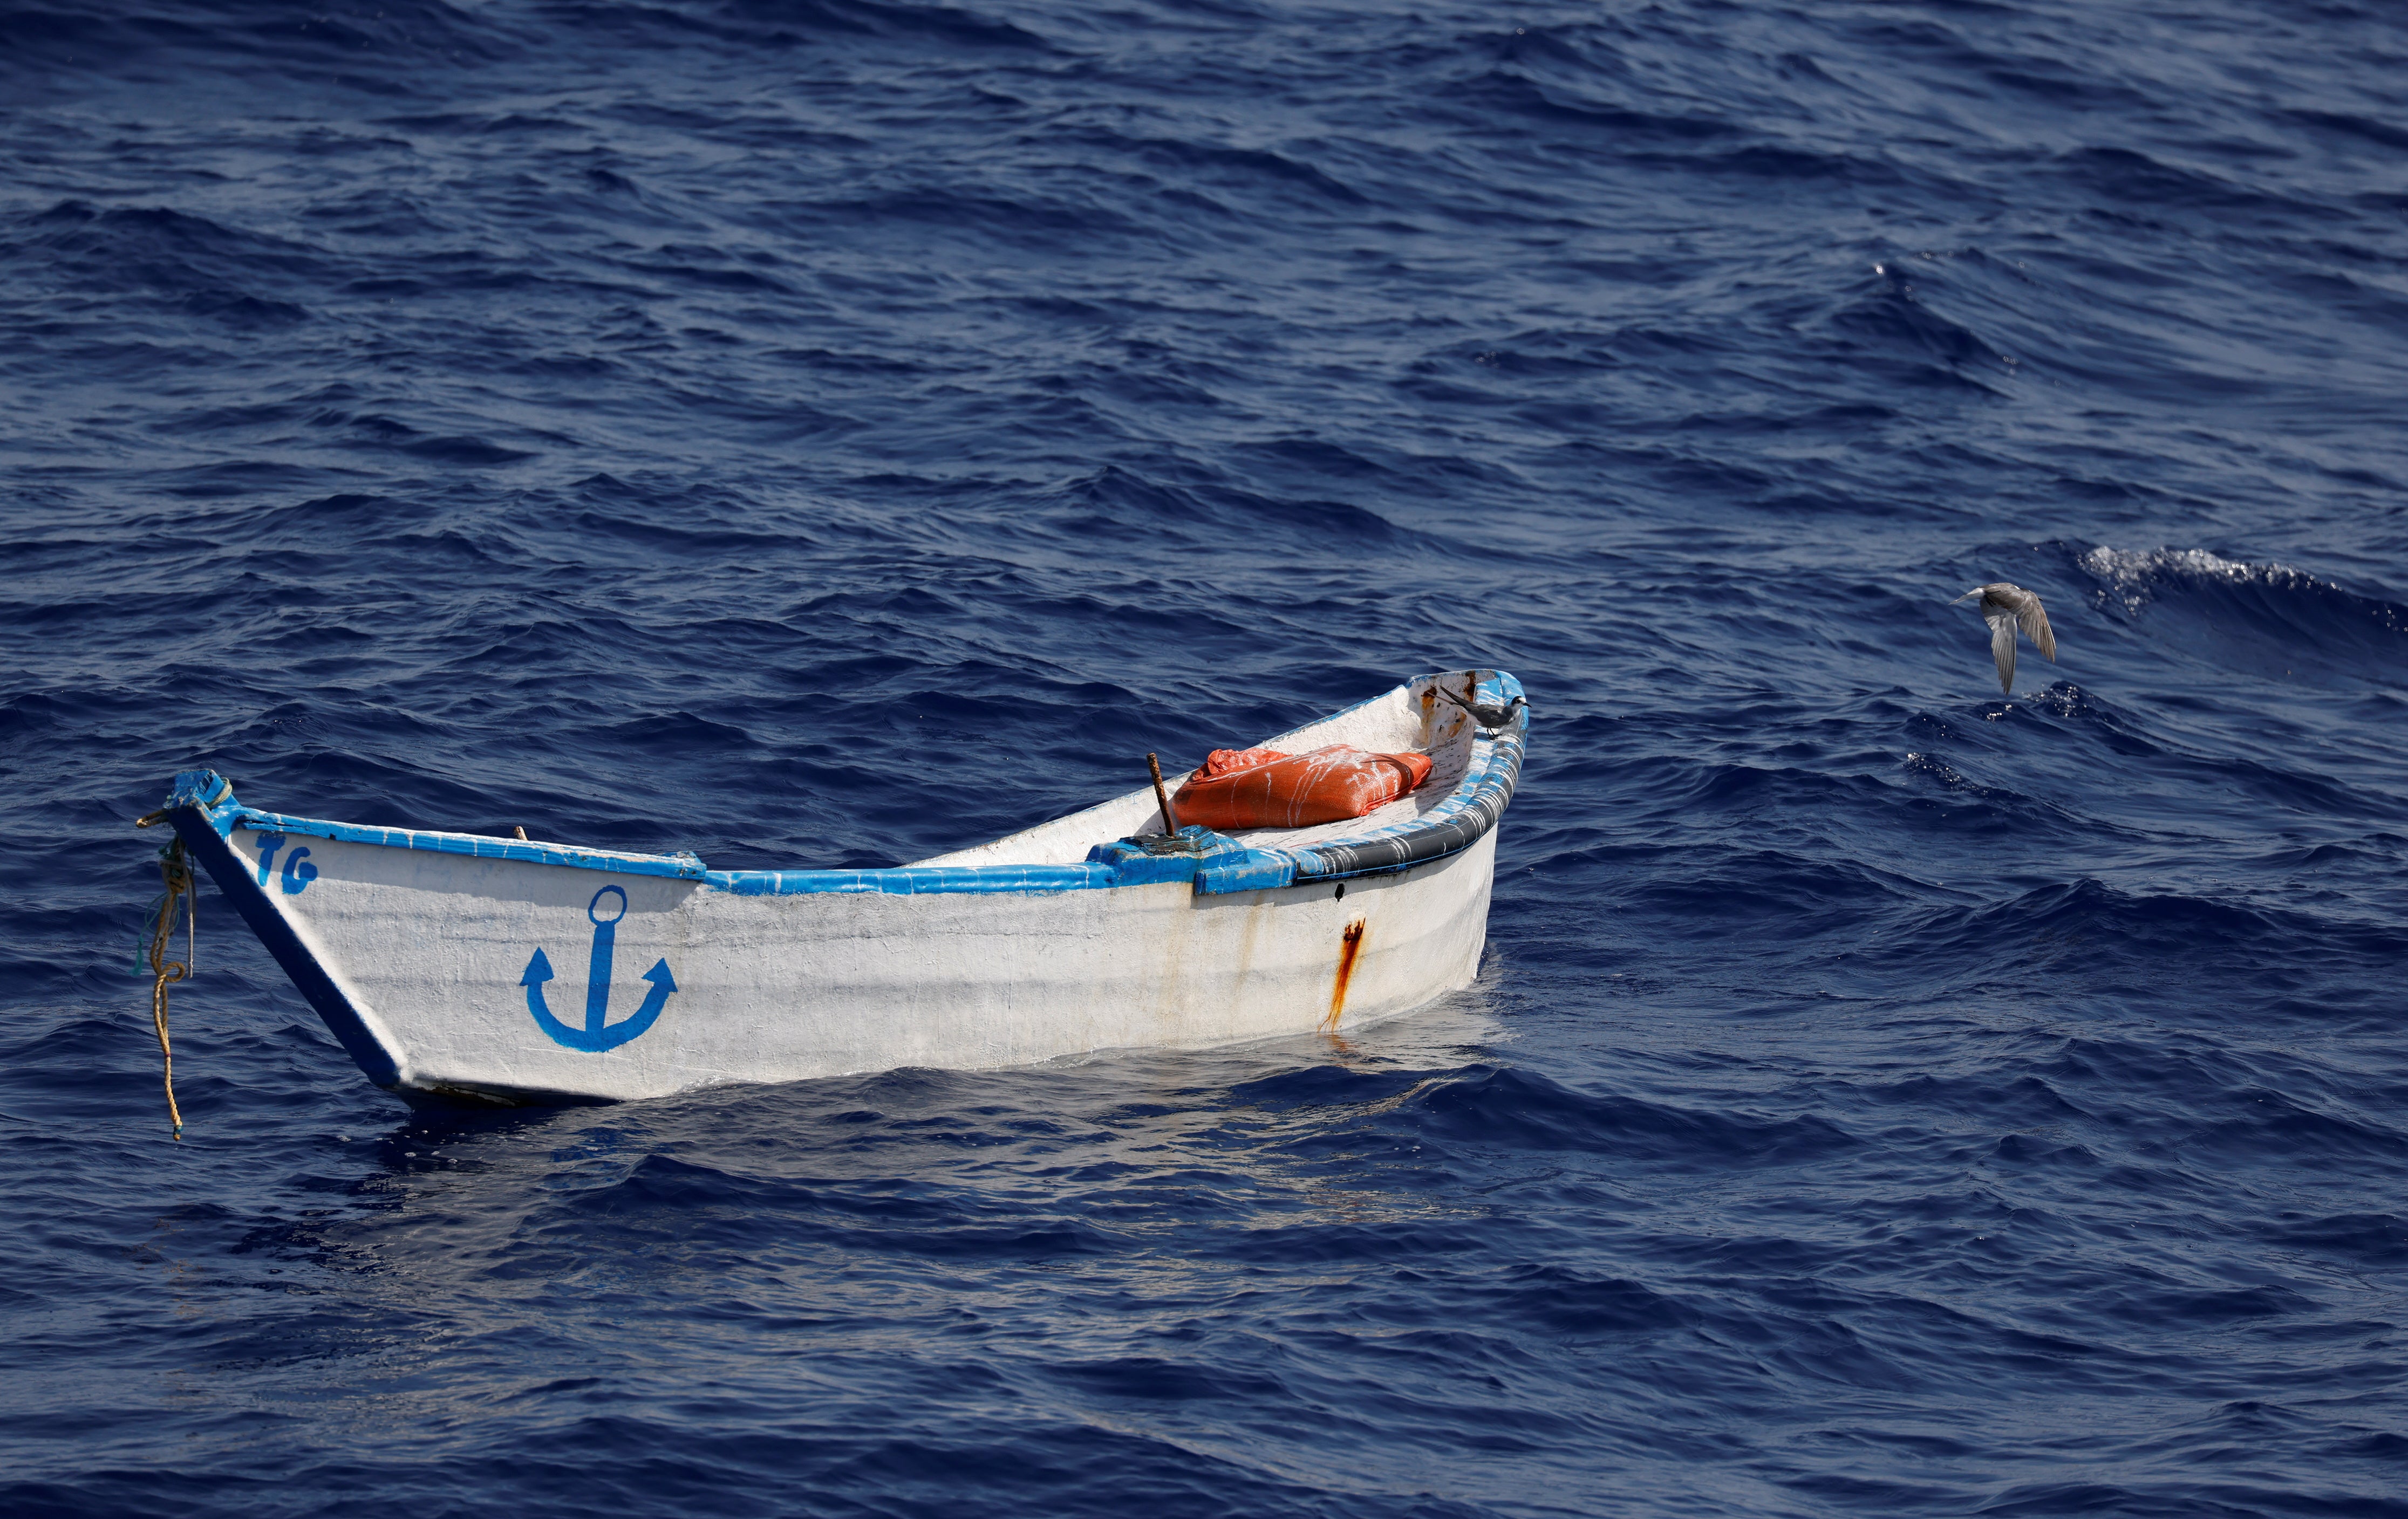
M 2408 10 L 5 0 L 0 166 L 7 1514 L 2408 1514 Z M 169 1139 L 178 768 L 891 864 L 1462 664 L 1423 1013 L 412 1115 L 205 888 Z

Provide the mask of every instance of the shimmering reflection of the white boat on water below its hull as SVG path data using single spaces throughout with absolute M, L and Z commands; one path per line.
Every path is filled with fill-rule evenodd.
M 1464 1208 L 1469 1177 L 1416 1160 L 1416 1110 L 1495 1069 L 1491 1001 L 1471 987 L 1344 1035 L 1019 1071 L 421 1112 L 376 1141 L 380 1165 L 315 1247 L 431 1302 L 804 1261 L 787 1285 L 836 1290 L 852 1271 L 958 1254 L 1035 1266 L 1226 1230 L 1430 1220 Z

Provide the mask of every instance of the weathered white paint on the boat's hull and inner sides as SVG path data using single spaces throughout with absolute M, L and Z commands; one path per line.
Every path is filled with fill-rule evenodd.
M 1411 821 L 1464 775 L 1474 732 L 1421 681 L 1281 734 L 1274 746 L 1430 746 L 1416 792 L 1353 823 L 1250 835 L 1322 843 Z M 347 1042 L 390 1059 L 390 1086 L 424 1095 L 653 1098 L 734 1081 L 795 1081 L 896 1066 L 992 1069 L 1129 1045 L 1206 1045 L 1344 1028 L 1466 985 L 1488 927 L 1495 833 L 1399 871 L 1202 896 L 1187 881 L 1079 891 L 802 891 L 744 896 L 703 879 L 621 874 L 289 833 L 315 876 L 284 883 L 258 816 L 222 809 L 231 857 L 202 862 L 260 912 L 356 1013 Z M 195 816 L 209 818 L 207 809 Z M 1074 864 L 1098 843 L 1156 826 L 1151 790 L 922 867 Z M 178 823 L 185 838 L 193 828 Z M 426 835 L 409 835 L 424 840 Z M 202 840 L 212 843 L 212 840 Z M 458 850 L 458 845 L 450 845 Z M 234 879 L 229 879 L 234 876 Z M 265 876 L 260 881 L 258 876 Z M 542 948 L 551 1016 L 583 1028 L 595 946 L 590 908 L 619 888 L 609 1026 L 667 963 L 677 992 L 638 1038 L 573 1050 L 527 1006 Z M 604 900 L 602 915 L 616 910 Z M 272 927 L 262 939 L 275 939 Z M 1341 994 L 1346 936 L 1361 924 Z M 275 944 L 270 944 L 275 948 Z M 308 980 L 296 970 L 296 982 Z M 325 1011 L 327 999 L 313 994 Z M 330 1023 L 337 1023 L 330 1013 Z M 364 1030 L 364 1033 L 361 1033 Z M 337 1028 L 342 1033 L 342 1028 Z M 376 1071 L 371 1057 L 361 1064 Z

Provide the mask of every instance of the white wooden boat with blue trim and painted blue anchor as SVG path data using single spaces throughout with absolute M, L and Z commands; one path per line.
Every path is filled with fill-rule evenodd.
M 1264 741 L 1430 751 L 1430 778 L 1370 816 L 1165 838 L 1141 787 L 896 869 L 327 823 L 246 806 L 214 770 L 178 775 L 166 809 L 378 1086 L 614 1100 L 1334 1033 L 1426 1004 L 1479 968 L 1527 729 L 1510 674 L 1418 676 Z

